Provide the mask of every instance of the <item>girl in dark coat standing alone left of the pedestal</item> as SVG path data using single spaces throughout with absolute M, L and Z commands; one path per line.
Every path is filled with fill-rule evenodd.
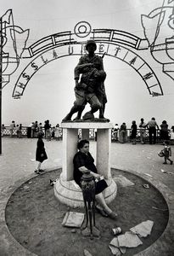
M 48 159 L 48 156 L 44 148 L 44 143 L 42 141 L 42 136 L 43 136 L 42 132 L 38 132 L 38 135 L 37 135 L 38 140 L 36 143 L 36 161 L 38 161 L 38 166 L 35 170 L 37 174 L 40 174 L 40 172 L 43 172 L 43 170 L 41 169 L 42 162 Z

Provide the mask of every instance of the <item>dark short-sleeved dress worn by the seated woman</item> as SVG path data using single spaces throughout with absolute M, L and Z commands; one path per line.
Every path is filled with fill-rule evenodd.
M 73 159 L 74 164 L 74 179 L 76 183 L 81 187 L 81 177 L 83 173 L 79 171 L 81 166 L 85 166 L 88 170 L 98 173 L 96 166 L 94 165 L 93 156 L 90 153 L 84 154 L 81 151 L 77 152 Z M 99 180 L 95 183 L 95 194 L 101 193 L 104 189 L 108 187 L 105 180 Z

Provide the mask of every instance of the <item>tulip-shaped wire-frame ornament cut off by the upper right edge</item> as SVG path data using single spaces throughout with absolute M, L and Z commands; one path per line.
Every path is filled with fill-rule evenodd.
M 162 64 L 162 72 L 174 80 L 174 1 L 163 0 L 161 7 L 152 10 L 149 15 L 141 15 L 141 22 L 150 54 Z M 153 27 L 150 34 L 149 24 Z M 163 35 L 164 31 L 167 38 Z

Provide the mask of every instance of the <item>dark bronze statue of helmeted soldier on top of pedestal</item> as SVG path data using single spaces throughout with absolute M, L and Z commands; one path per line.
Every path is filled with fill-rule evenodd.
M 86 49 L 88 54 L 81 56 L 79 63 L 75 67 L 76 101 L 70 109 L 70 113 L 62 120 L 63 122 L 70 121 L 74 113 L 77 113 L 74 120 L 81 119 L 81 113 L 87 102 L 90 104 L 91 110 L 85 113 L 83 116 L 84 120 L 94 119 L 93 113 L 99 110 L 99 119 L 109 121 L 109 119 L 104 119 L 104 108 L 107 98 L 104 88 L 106 73 L 104 72 L 103 58 L 95 55 L 94 52 L 97 49 L 97 45 L 94 40 L 87 41 Z

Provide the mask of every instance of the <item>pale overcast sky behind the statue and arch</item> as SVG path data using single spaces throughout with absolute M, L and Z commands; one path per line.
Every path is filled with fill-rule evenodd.
M 24 30 L 30 29 L 27 47 L 37 40 L 57 32 L 74 31 L 80 21 L 87 21 L 92 29 L 106 28 L 130 32 L 144 38 L 141 15 L 162 5 L 160 0 L 0 0 L 2 16 L 13 9 L 14 24 Z M 168 19 L 168 16 L 165 17 Z M 163 23 L 160 43 L 174 31 Z M 152 27 L 151 27 L 152 26 Z M 153 33 L 153 25 L 149 32 Z M 166 34 L 167 33 L 167 34 Z M 132 49 L 133 50 L 133 49 Z M 126 122 L 131 126 L 133 119 L 140 122 L 143 117 L 149 121 L 153 116 L 160 125 L 166 119 L 174 125 L 173 96 L 174 80 L 162 73 L 162 65 L 154 61 L 149 49 L 136 51 L 152 67 L 164 96 L 152 97 L 143 79 L 125 62 L 104 56 L 104 69 L 107 73 L 105 88 L 108 97 L 105 116 L 112 123 Z M 14 84 L 30 60 L 20 60 L 19 69 L 11 76 L 10 83 L 3 89 L 3 124 L 9 125 L 12 119 L 16 124 L 29 125 L 32 121 L 44 122 L 49 119 L 52 125 L 61 122 L 75 100 L 74 67 L 79 56 L 60 58 L 42 67 L 27 84 L 20 100 L 14 100 Z M 27 62 L 28 61 L 28 62 Z M 87 108 L 88 109 L 88 108 Z M 98 114 L 96 115 L 98 116 Z

